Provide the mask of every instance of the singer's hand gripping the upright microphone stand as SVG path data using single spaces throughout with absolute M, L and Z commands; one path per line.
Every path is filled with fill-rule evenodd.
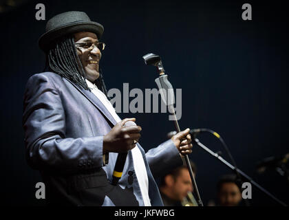
M 193 144 L 191 144 L 191 135 L 190 129 L 186 129 L 177 133 L 171 137 L 173 144 L 178 148 L 181 155 L 186 155 L 192 153 L 191 148 L 193 148 Z

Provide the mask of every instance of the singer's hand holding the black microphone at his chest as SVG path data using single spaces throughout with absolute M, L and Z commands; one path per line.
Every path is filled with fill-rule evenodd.
M 136 146 L 136 142 L 140 139 L 140 126 L 124 126 L 125 122 L 136 121 L 136 118 L 125 118 L 118 122 L 112 129 L 103 137 L 103 154 L 108 152 L 126 153 Z

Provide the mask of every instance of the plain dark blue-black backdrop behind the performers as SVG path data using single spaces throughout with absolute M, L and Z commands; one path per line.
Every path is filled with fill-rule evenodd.
M 45 4 L 46 21 L 36 21 L 36 3 Z M 242 20 L 250 3 L 253 20 Z M 45 56 L 37 45 L 55 14 L 85 11 L 104 25 L 107 44 L 101 66 L 109 88 L 154 88 L 156 69 L 142 56 L 159 54 L 174 88 L 182 89 L 181 129 L 210 128 L 222 135 L 241 170 L 289 203 L 288 184 L 275 171 L 258 174 L 256 162 L 288 153 L 288 18 L 282 1 L 28 1 L 0 14 L 1 27 L 1 201 L 41 205 L 35 199 L 38 171 L 25 162 L 23 91 L 42 72 Z M 174 129 L 166 113 L 122 114 L 142 126 L 147 151 Z M 215 137 L 198 138 L 222 151 Z M 195 146 L 197 185 L 206 205 L 215 198 L 220 175 L 231 170 Z M 254 206 L 277 203 L 253 186 Z

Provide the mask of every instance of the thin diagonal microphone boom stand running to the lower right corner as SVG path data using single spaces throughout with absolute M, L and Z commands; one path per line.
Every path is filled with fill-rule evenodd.
M 244 173 L 242 170 L 239 170 L 238 168 L 235 168 L 235 166 L 233 166 L 232 164 L 230 164 L 229 162 L 227 162 L 223 157 L 221 157 L 219 154 L 211 151 L 209 148 L 207 148 L 204 144 L 202 144 L 199 140 L 197 140 L 197 138 L 195 138 L 194 136 L 192 137 L 193 140 L 193 144 L 197 144 L 197 146 L 200 146 L 204 151 L 206 151 L 207 153 L 209 153 L 210 155 L 212 155 L 213 157 L 215 157 L 216 159 L 219 159 L 220 162 L 222 162 L 223 164 L 225 164 L 226 166 L 228 166 L 228 168 L 231 168 L 231 170 L 233 171 L 237 171 L 237 173 L 239 173 L 240 175 L 242 175 L 242 177 L 244 177 L 245 179 L 247 179 L 248 181 L 250 181 L 251 184 L 253 184 L 254 186 L 256 186 L 257 188 L 259 188 L 259 190 L 261 190 L 262 192 L 264 192 L 266 195 L 268 195 L 270 198 L 274 199 L 275 201 L 277 201 L 277 203 L 279 203 L 281 206 L 287 206 L 286 203 L 283 203 L 283 201 L 280 201 L 279 199 L 277 199 L 277 197 L 275 197 L 274 195 L 272 195 L 270 192 L 268 192 L 266 189 L 264 189 L 263 187 L 261 187 L 259 184 L 257 184 L 255 181 L 253 181 L 253 179 L 251 177 L 249 177 L 248 175 L 246 175 L 246 173 Z

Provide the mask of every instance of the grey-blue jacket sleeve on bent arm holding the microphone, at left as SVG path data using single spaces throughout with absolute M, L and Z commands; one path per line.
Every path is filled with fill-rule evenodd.
M 22 124 L 32 168 L 70 173 L 103 166 L 103 136 L 65 137 L 65 109 L 53 79 L 45 74 L 28 80 Z

